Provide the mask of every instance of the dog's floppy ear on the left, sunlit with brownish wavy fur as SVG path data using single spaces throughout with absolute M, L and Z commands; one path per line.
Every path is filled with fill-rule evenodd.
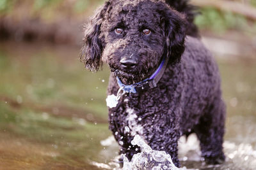
M 90 18 L 84 29 L 83 47 L 81 49 L 80 60 L 90 71 L 98 71 L 102 67 L 102 49 L 104 38 L 100 37 L 100 26 L 104 15 L 108 10 L 109 2 L 99 8 L 95 15 Z

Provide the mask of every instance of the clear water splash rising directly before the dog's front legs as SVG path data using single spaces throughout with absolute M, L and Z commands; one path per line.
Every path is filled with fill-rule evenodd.
M 134 136 L 134 139 L 131 142 L 132 145 L 138 145 L 141 148 L 141 153 L 137 153 L 133 155 L 131 162 L 125 157 L 125 154 L 122 155 L 124 157 L 124 170 L 140 170 L 140 169 L 169 169 L 169 170 L 180 170 L 186 169 L 186 167 L 176 167 L 172 158 L 169 154 L 164 151 L 152 150 L 150 146 L 145 143 L 145 141 L 138 135 Z

